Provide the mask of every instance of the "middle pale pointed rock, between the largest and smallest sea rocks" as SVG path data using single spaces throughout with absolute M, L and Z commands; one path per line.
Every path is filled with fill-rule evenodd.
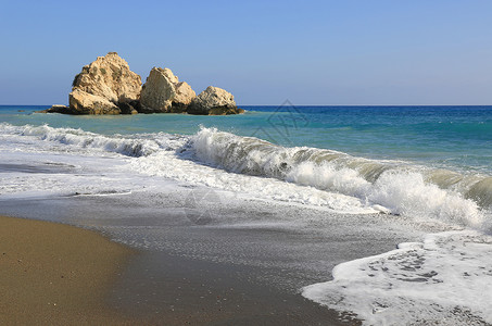
M 142 86 L 140 111 L 143 113 L 185 112 L 197 93 L 168 68 L 153 67 Z

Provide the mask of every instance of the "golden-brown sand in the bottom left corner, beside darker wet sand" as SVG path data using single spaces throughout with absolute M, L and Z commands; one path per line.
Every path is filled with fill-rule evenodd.
M 135 252 L 76 227 L 0 217 L 1 325 L 130 325 L 106 294 Z

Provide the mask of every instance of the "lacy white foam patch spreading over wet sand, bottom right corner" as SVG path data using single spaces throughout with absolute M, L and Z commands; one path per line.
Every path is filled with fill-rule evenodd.
M 428 235 L 424 242 L 336 266 L 333 280 L 303 296 L 365 325 L 492 323 L 492 237 L 476 231 Z

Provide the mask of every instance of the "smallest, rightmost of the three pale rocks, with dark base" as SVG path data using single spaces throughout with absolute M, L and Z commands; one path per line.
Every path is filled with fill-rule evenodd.
M 226 115 L 243 112 L 244 110 L 236 105 L 230 92 L 213 86 L 202 91 L 188 108 L 190 114 Z

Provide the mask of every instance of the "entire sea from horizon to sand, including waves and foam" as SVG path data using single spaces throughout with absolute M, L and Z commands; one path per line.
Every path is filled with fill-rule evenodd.
M 492 106 L 0 106 L 0 214 L 264 268 L 364 325 L 492 325 Z

